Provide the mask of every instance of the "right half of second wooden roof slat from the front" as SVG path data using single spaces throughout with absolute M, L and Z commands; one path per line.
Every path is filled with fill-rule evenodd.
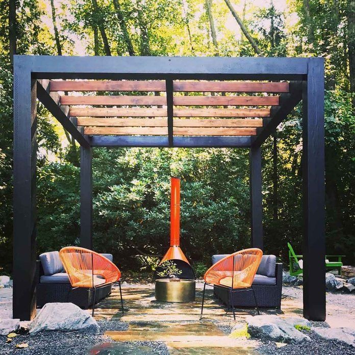
M 277 106 L 279 96 L 174 96 L 177 106 Z

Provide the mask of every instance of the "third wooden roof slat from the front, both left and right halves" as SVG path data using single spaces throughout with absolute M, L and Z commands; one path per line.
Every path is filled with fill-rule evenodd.
M 165 117 L 164 109 L 147 108 L 75 108 L 69 116 L 92 117 Z M 269 117 L 270 109 L 174 109 L 174 117 Z

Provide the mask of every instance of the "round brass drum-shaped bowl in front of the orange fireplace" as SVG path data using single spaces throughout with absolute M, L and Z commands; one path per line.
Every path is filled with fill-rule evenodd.
M 195 300 L 195 280 L 156 280 L 155 297 L 161 302 L 192 302 Z

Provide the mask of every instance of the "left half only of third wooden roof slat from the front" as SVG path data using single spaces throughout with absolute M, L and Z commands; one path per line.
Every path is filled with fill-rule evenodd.
M 164 117 L 165 109 L 145 108 L 70 108 L 70 116 L 93 116 L 93 117 Z

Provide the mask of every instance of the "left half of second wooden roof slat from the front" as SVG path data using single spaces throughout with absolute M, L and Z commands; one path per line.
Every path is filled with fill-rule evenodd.
M 166 96 L 78 96 L 62 95 L 62 105 L 166 105 Z

